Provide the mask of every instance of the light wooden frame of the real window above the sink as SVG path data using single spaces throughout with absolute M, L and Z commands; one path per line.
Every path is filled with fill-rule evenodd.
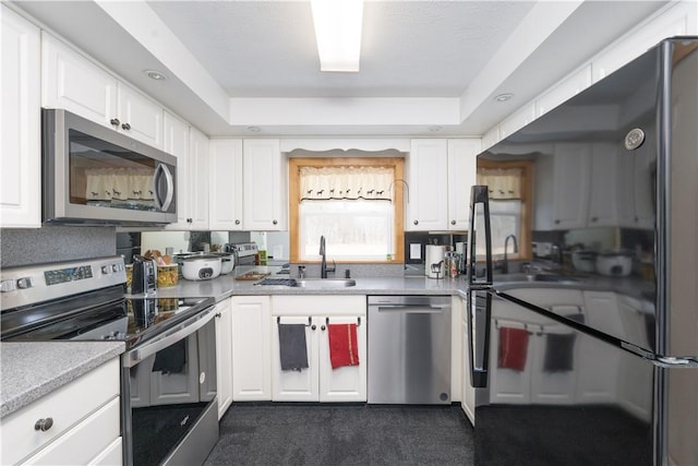
M 289 261 L 314 264 L 320 261 L 300 259 L 300 169 L 301 167 L 393 167 L 395 181 L 404 179 L 405 159 L 401 157 L 291 157 L 289 158 Z M 404 186 L 393 183 L 395 254 L 389 261 L 341 261 L 347 264 L 401 264 L 405 262 L 405 204 Z

